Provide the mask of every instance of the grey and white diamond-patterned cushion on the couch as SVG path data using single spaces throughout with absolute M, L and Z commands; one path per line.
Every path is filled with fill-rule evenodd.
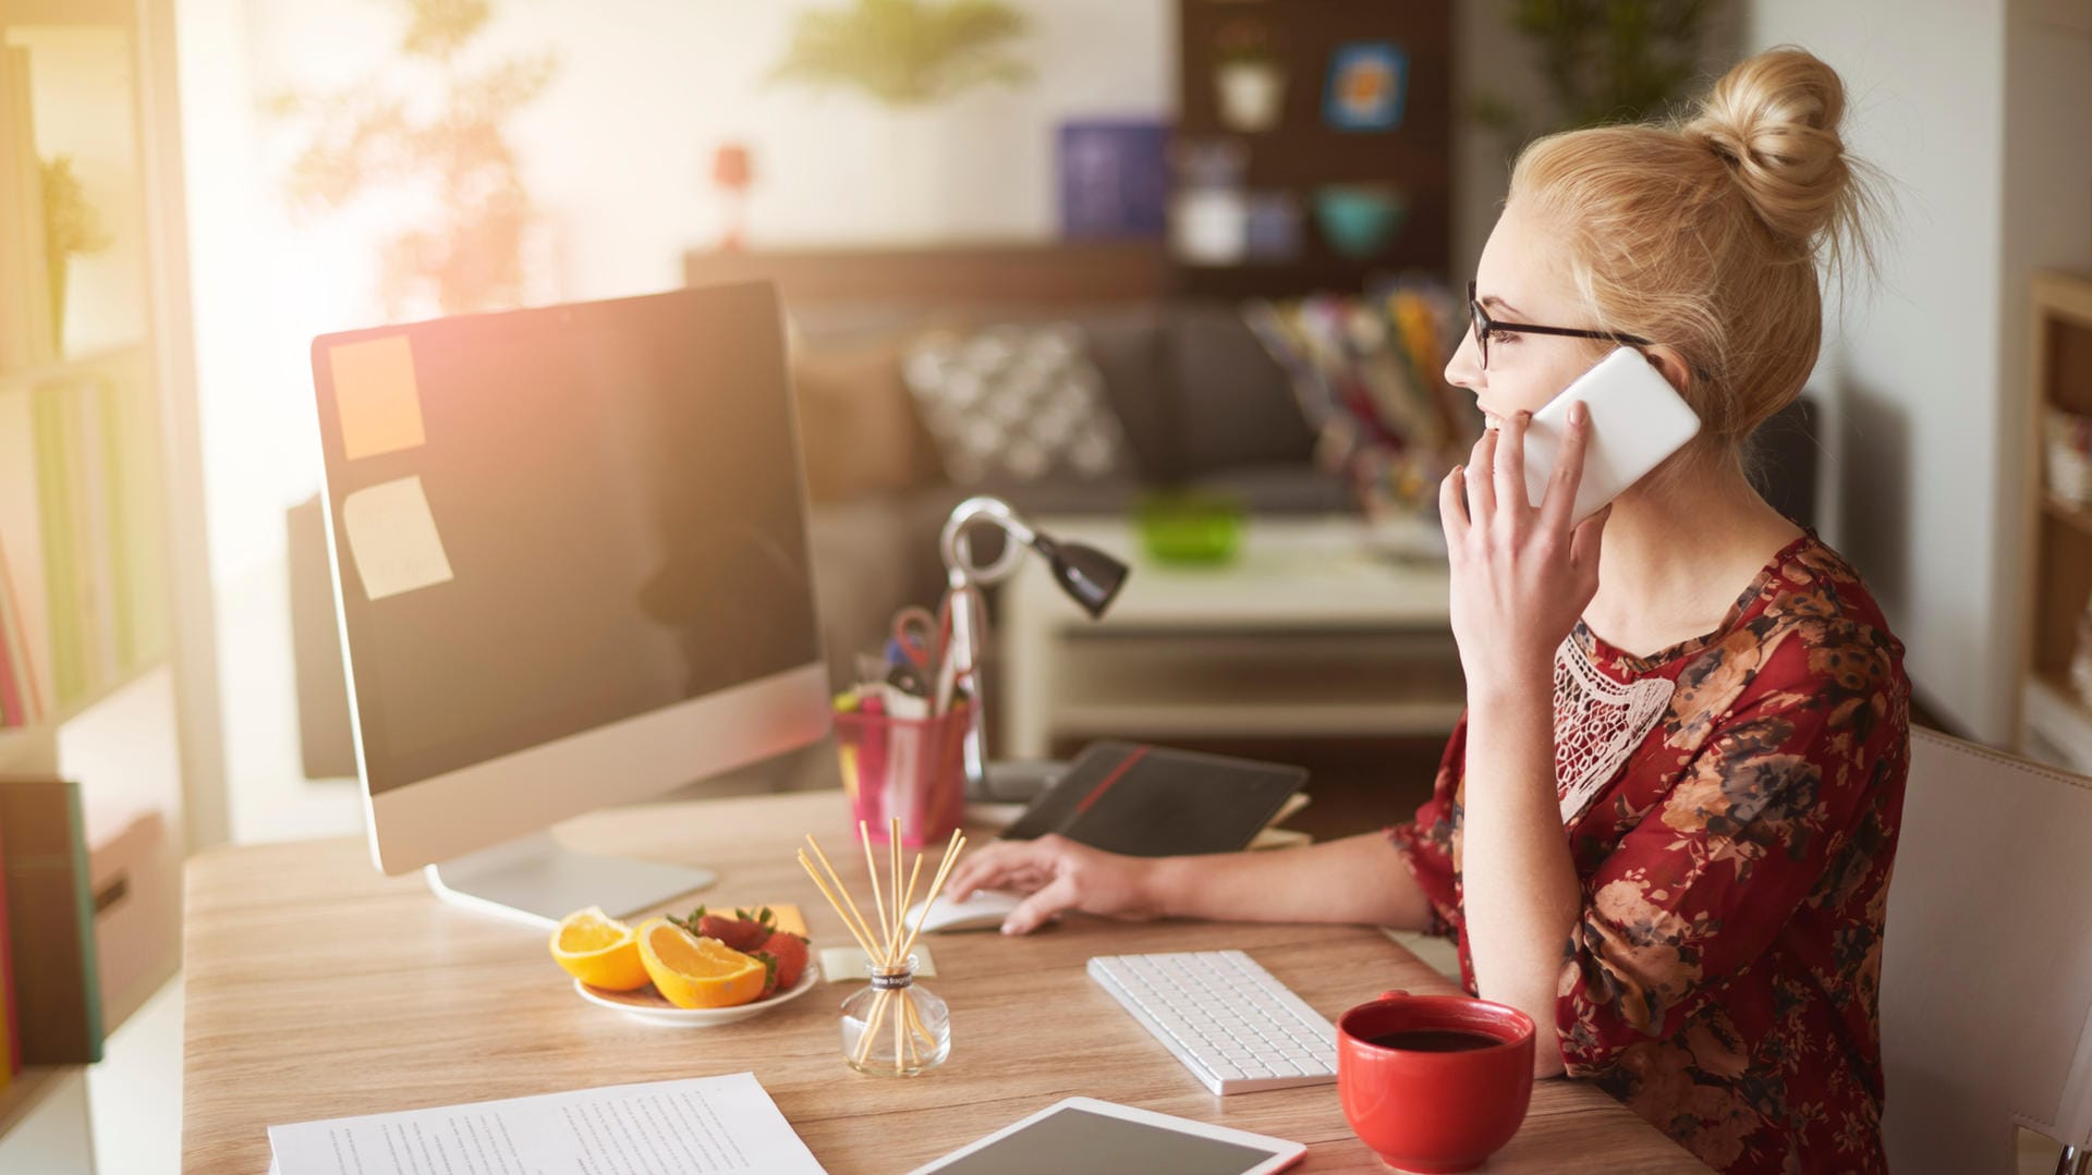
M 1073 324 L 931 335 L 908 351 L 904 374 L 958 487 L 1132 473 L 1105 376 Z

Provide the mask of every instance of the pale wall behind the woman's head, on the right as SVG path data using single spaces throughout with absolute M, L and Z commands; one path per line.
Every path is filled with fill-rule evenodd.
M 2084 266 L 2084 46 L 2021 0 L 1757 0 L 1749 42 L 1845 77 L 1847 146 L 1887 178 L 1881 272 L 1826 330 L 1839 519 L 1923 700 L 2010 742 L 2025 282 Z M 2017 144 L 2008 151 L 2008 144 Z M 2075 201 L 2071 194 L 2075 192 Z

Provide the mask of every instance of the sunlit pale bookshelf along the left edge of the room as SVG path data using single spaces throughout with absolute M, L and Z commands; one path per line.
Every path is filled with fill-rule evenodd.
M 0 0 L 0 774 L 79 782 L 111 1035 L 222 838 L 182 190 L 174 0 Z M 86 1169 L 88 1121 L 25 1068 L 0 1171 Z

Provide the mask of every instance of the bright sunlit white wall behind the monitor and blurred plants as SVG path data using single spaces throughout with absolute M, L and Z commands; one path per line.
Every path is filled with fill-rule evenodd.
M 475 59 L 552 48 L 559 75 L 513 142 L 546 232 L 531 301 L 680 284 L 715 240 L 711 148 L 749 142 L 755 245 L 1046 238 L 1054 128 L 1174 105 L 1174 0 L 1021 0 L 1033 82 L 893 117 L 851 94 L 764 86 L 799 2 L 504 0 Z M 351 828 L 354 788 L 305 786 L 285 590 L 285 510 L 318 489 L 310 341 L 383 318 L 385 209 L 293 224 L 295 134 L 259 102 L 354 86 L 391 59 L 389 0 L 178 0 L 205 508 L 226 776 L 238 838 Z M 910 201 L 897 207 L 900 201 Z

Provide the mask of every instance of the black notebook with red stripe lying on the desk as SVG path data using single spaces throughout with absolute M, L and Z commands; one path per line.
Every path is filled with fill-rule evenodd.
M 1305 767 L 1284 763 L 1092 742 L 1002 838 L 1059 832 L 1134 857 L 1230 853 L 1247 847 L 1305 782 Z

